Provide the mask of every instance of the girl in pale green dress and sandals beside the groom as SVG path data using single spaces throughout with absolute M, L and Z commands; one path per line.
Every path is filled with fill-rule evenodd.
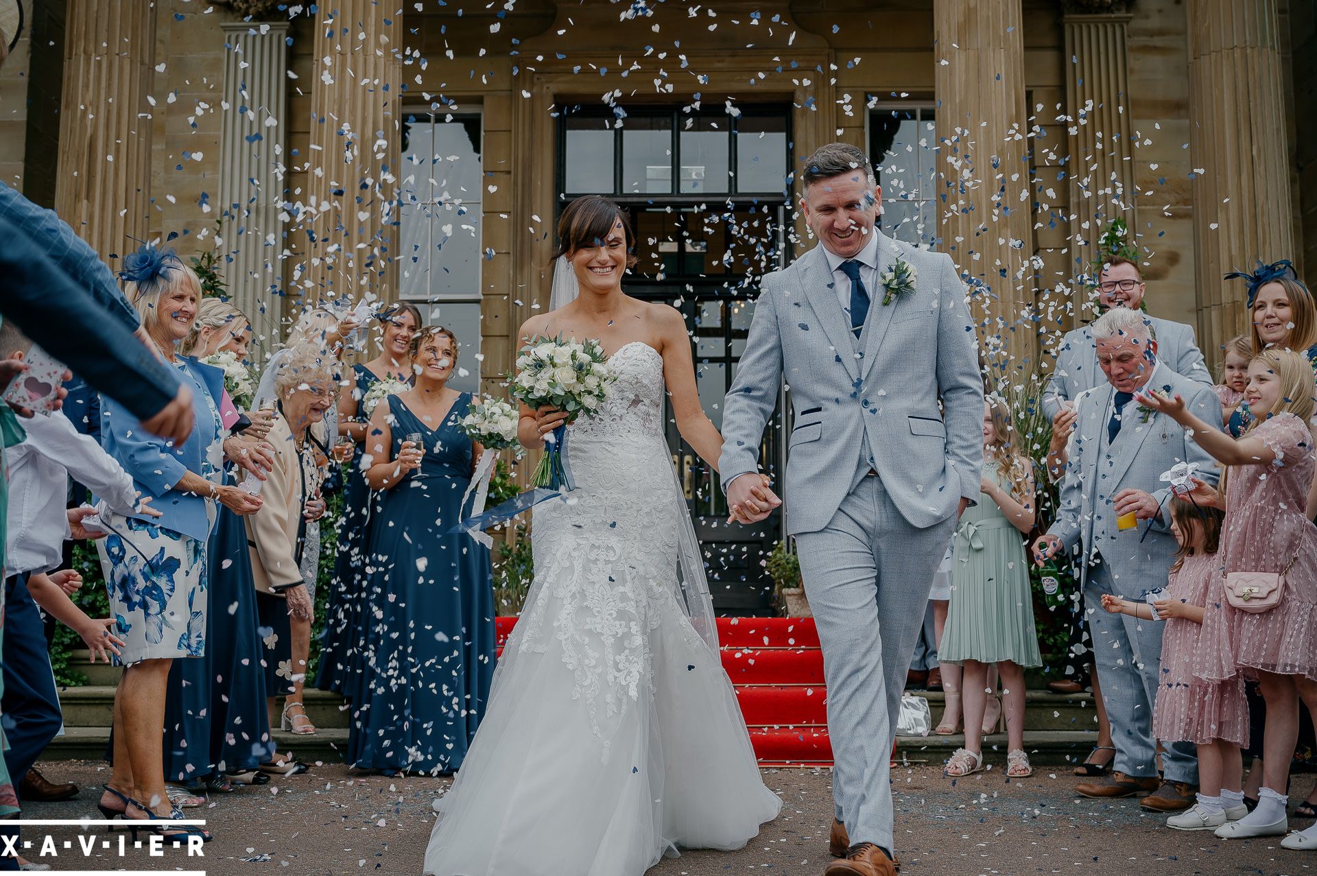
M 985 400 L 982 431 L 982 495 L 956 530 L 951 606 L 938 655 L 942 663 L 963 667 L 965 747 L 947 761 L 946 775 L 968 776 L 984 767 L 988 669 L 997 664 L 1009 742 L 1006 776 L 1023 779 L 1034 772 L 1025 753 L 1025 667 L 1042 664 L 1022 540 L 1034 528 L 1034 478 L 1029 458 L 1011 447 L 1005 402 Z

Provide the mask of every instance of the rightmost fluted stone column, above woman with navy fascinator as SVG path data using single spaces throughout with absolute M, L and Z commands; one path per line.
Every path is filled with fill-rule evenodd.
M 1247 328 L 1243 283 L 1221 275 L 1295 256 L 1276 0 L 1189 0 L 1189 158 L 1198 346 Z

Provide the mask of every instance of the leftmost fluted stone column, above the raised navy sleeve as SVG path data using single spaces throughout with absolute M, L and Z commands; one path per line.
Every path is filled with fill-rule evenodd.
M 148 234 L 154 58 L 153 4 L 68 0 L 55 211 L 101 258 Z

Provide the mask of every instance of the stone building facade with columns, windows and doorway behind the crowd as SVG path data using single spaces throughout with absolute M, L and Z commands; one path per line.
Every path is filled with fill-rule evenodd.
M 1245 328 L 1223 271 L 1317 266 L 1313 0 L 24 3 L 0 179 L 111 261 L 216 250 L 266 348 L 307 300 L 408 298 L 493 389 L 565 195 L 603 192 L 632 213 L 635 294 L 687 315 L 716 423 L 757 275 L 811 245 L 799 163 L 832 140 L 873 155 L 889 233 L 956 260 L 1015 374 L 1087 317 L 1112 219 L 1209 360 Z

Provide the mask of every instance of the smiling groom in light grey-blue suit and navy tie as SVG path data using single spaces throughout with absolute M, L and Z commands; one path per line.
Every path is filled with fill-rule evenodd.
M 764 277 L 723 412 L 732 518 L 751 495 L 782 381 L 793 431 L 786 531 L 823 645 L 836 822 L 827 876 L 890 876 L 889 757 L 928 582 L 977 499 L 982 381 L 951 258 L 874 221 L 880 188 L 855 146 L 805 162 L 801 208 L 819 246 Z M 942 404 L 939 406 L 939 399 Z

